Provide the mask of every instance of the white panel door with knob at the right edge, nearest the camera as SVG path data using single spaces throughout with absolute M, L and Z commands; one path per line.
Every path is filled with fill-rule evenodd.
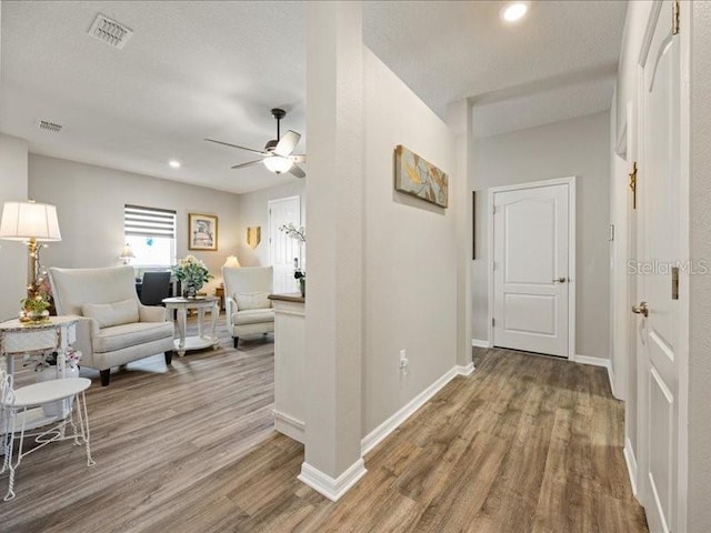
M 637 284 L 640 303 L 640 470 L 650 532 L 678 531 L 680 300 L 673 278 L 680 262 L 680 53 L 673 2 L 652 10 L 649 50 L 642 54 L 641 147 L 638 178 Z M 647 314 L 647 315 L 645 315 Z

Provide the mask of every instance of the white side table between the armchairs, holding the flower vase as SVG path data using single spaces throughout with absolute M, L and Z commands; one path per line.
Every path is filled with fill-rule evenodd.
M 176 311 L 178 332 L 180 339 L 173 341 L 176 352 L 181 358 L 188 350 L 202 350 L 212 346 L 213 350 L 220 348 L 220 341 L 216 334 L 218 315 L 220 314 L 220 299 L 214 296 L 204 298 L 167 298 L 163 300 L 166 312 L 172 318 L 172 311 Z M 196 309 L 198 311 L 198 335 L 186 336 L 186 322 L 188 320 L 188 310 Z M 210 331 L 204 333 L 202 322 L 204 321 L 204 312 L 210 311 Z

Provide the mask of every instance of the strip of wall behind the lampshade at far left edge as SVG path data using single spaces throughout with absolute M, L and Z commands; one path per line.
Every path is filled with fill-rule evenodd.
M 27 141 L 0 134 L 0 211 L 7 201 L 27 201 Z M 18 315 L 20 300 L 26 295 L 27 270 L 27 247 L 0 241 L 0 321 Z

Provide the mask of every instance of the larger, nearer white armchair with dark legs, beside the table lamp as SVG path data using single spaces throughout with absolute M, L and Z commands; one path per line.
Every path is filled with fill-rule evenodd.
M 166 310 L 142 305 L 131 266 L 49 269 L 57 314 L 81 316 L 77 344 L 81 364 L 99 370 L 107 386 L 111 366 L 164 352 L 170 364 L 173 324 Z

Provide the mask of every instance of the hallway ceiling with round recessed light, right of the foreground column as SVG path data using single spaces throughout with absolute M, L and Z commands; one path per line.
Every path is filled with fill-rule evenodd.
M 533 1 L 515 24 L 505 3 L 367 2 L 364 40 L 440 117 L 471 98 L 480 137 L 609 109 L 627 2 Z

